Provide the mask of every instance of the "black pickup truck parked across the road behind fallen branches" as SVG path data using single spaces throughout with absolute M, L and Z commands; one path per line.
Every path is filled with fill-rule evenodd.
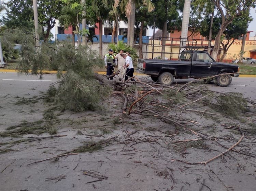
M 239 67 L 233 64 L 216 62 L 205 51 L 185 50 L 179 60 L 139 59 L 137 71 L 151 75 L 154 82 L 171 85 L 173 79 L 200 79 L 216 76 L 219 86 L 227 87 L 232 81 L 231 76 L 239 76 Z

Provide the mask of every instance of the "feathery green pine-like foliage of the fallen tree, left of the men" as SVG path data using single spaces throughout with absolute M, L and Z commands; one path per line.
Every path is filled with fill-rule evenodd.
M 110 88 L 94 79 L 92 70 L 95 66 L 102 66 L 103 60 L 87 47 L 74 48 L 70 44 L 58 47 L 42 43 L 40 48 L 35 49 L 33 40 L 28 37 L 23 43 L 21 55 L 20 72 L 29 73 L 32 70 L 33 74 L 40 74 L 47 69 L 58 71 L 57 76 L 61 79 L 59 86 L 56 91 L 50 87 L 48 92 L 52 92 L 53 100 L 61 103 L 64 109 L 97 109 L 100 99 L 110 93 Z

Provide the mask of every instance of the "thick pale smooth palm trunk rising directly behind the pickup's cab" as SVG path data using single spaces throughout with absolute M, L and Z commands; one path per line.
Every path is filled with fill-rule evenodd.
M 184 47 L 186 47 L 186 44 L 187 44 L 189 14 L 190 14 L 190 0 L 185 0 L 184 7 L 183 7 L 183 16 L 182 16 L 180 53 L 185 49 Z

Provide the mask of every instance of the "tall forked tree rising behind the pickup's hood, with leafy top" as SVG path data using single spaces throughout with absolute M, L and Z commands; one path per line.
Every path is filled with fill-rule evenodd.
M 251 7 L 255 7 L 256 0 L 212 0 L 217 10 L 219 11 L 222 19 L 221 27 L 215 37 L 214 48 L 212 51 L 212 57 L 217 60 L 219 47 L 221 44 L 221 37 L 223 32 L 228 25 L 233 21 L 234 18 L 240 17 Z

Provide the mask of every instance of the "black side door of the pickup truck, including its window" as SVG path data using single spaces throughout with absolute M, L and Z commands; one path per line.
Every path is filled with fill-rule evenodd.
M 192 58 L 192 67 L 190 76 L 204 77 L 213 75 L 211 69 L 212 58 L 207 52 L 195 52 Z

